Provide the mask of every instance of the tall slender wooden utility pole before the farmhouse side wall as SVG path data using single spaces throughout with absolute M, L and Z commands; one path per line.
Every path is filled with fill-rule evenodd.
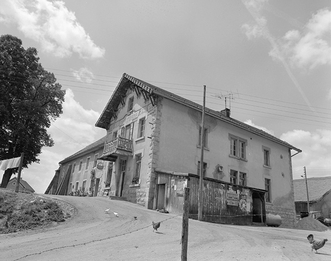
M 206 110 L 206 85 L 203 85 L 203 105 L 202 105 L 202 123 L 201 123 L 201 156 L 200 156 L 200 178 L 198 195 L 198 220 L 202 221 L 202 189 L 203 189 L 203 148 L 205 147 L 205 110 Z

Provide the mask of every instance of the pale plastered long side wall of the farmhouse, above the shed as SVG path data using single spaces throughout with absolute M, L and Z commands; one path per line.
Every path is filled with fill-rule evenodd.
M 201 112 L 163 99 L 158 168 L 197 174 L 200 124 Z M 207 177 L 230 182 L 230 170 L 234 169 L 247 174 L 248 187 L 263 190 L 265 178 L 271 179 L 271 204 L 294 207 L 291 159 L 287 147 L 208 115 L 205 127 L 209 129 L 208 149 L 204 150 L 203 159 L 207 163 Z M 247 140 L 246 161 L 229 156 L 229 134 Z M 270 148 L 270 168 L 263 166 L 262 146 Z M 223 166 L 223 173 L 217 171 L 218 165 Z

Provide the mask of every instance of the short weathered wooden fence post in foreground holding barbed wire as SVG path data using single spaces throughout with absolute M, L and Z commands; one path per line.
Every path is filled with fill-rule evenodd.
M 183 207 L 183 222 L 182 222 L 182 261 L 187 261 L 187 244 L 189 236 L 189 195 L 190 189 L 184 188 L 184 207 Z

